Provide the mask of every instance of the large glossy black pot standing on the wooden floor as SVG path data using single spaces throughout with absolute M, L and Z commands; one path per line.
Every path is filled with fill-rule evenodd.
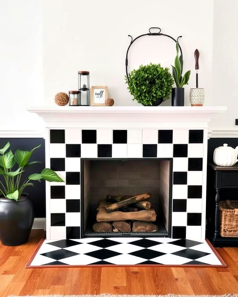
M 0 241 L 15 246 L 26 243 L 33 225 L 34 203 L 23 194 L 18 201 L 0 198 Z

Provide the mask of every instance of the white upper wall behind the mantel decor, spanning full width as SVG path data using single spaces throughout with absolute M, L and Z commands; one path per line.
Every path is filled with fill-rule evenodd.
M 195 85 L 193 53 L 198 48 L 205 104 L 229 108 L 212 125 L 235 128 L 237 5 L 236 0 L 2 1 L 1 129 L 40 128 L 41 121 L 27 114 L 26 106 L 54 105 L 55 93 L 77 89 L 78 70 L 90 71 L 91 85 L 108 85 L 116 105 L 136 105 L 124 80 L 127 35 L 136 37 L 151 26 L 173 37 L 183 36 L 184 70 L 192 70 L 185 86 L 186 105 L 189 89 Z M 172 41 L 143 37 L 131 47 L 129 70 L 149 62 L 170 66 L 174 55 Z

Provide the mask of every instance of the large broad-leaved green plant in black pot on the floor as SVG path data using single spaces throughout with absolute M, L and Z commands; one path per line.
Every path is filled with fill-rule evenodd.
M 0 241 L 3 245 L 15 246 L 26 243 L 29 239 L 34 221 L 34 203 L 27 193 L 26 187 L 33 186 L 31 181 L 45 179 L 49 182 L 64 182 L 55 171 L 45 168 L 41 173 L 21 180 L 22 173 L 37 161 L 29 161 L 35 149 L 22 151 L 17 149 L 15 155 L 8 142 L 0 149 Z M 15 169 L 13 169 L 15 167 Z

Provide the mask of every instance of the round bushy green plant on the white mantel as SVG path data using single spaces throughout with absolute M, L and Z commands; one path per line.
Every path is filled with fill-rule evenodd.
M 169 99 L 174 83 L 169 68 L 150 63 L 132 70 L 128 77 L 126 83 L 131 95 L 134 96 L 132 100 L 145 106 L 156 106 Z

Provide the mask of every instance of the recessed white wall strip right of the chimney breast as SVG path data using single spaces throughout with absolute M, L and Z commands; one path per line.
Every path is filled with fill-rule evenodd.
M 214 1 L 214 38 L 212 63 L 212 104 L 226 105 L 227 112 L 212 123 L 212 129 L 234 129 L 238 118 L 238 39 L 237 0 Z

